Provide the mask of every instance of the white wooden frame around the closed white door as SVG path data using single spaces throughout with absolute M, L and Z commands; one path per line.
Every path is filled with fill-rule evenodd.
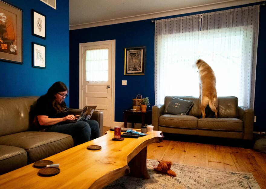
M 87 43 L 79 43 L 79 109 L 82 109 L 83 103 L 83 86 L 82 86 L 82 79 L 83 79 L 83 47 L 86 46 L 95 46 L 95 45 L 112 45 L 112 76 L 111 76 L 111 127 L 114 125 L 115 121 L 115 39 L 114 40 L 106 40 L 106 41 L 95 41 L 95 42 L 87 42 Z

